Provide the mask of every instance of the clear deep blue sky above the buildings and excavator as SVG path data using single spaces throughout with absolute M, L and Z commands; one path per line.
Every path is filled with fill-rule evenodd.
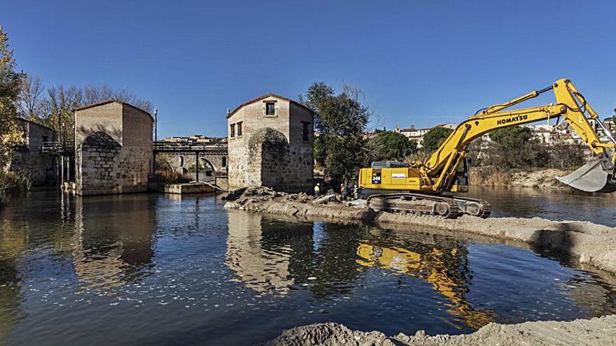
M 459 122 L 570 78 L 616 107 L 614 1 L 6 1 L 19 68 L 106 83 L 159 110 L 159 136 L 226 136 L 225 109 L 315 81 L 363 89 L 371 127 Z M 552 101 L 552 96 L 540 100 Z

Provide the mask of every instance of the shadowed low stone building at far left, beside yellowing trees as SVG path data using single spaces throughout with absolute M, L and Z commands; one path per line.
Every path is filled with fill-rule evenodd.
M 53 139 L 53 130 L 22 118 L 15 120 L 23 133 L 24 145 L 17 148 L 10 163 L 10 170 L 27 171 L 32 185 L 48 185 L 54 182 L 54 158 L 41 152 L 43 142 Z

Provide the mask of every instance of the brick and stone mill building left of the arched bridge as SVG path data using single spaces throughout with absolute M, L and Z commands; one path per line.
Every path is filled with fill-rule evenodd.
M 76 108 L 77 194 L 147 191 L 153 122 L 146 111 L 116 100 Z

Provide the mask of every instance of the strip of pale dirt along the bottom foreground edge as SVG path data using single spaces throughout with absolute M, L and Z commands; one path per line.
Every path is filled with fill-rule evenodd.
M 616 315 L 572 322 L 524 322 L 521 324 L 488 324 L 479 331 L 461 336 L 414 336 L 403 333 L 388 337 L 379 331 L 351 331 L 342 324 L 322 323 L 284 331 L 264 345 L 612 345 L 616 340 Z

